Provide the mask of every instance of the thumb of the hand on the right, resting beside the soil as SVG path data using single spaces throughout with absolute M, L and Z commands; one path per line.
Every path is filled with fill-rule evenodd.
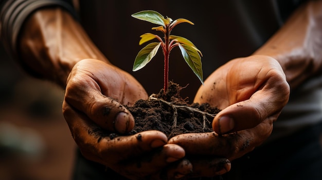
M 258 78 L 261 79 L 259 90 L 249 99 L 228 106 L 214 117 L 215 132 L 224 134 L 253 128 L 267 118 L 276 121 L 289 99 L 290 88 L 285 75 L 276 67 L 259 73 Z

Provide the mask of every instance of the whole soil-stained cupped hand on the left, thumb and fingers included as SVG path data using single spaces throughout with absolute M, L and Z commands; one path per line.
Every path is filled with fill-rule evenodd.
M 183 158 L 185 151 L 167 145 L 162 132 L 110 136 L 112 132 L 128 133 L 134 127 L 133 116 L 122 105 L 131 106 L 147 97 L 134 77 L 110 64 L 96 59 L 77 63 L 67 79 L 63 114 L 84 157 L 130 179 L 159 177 L 160 173 L 171 178 L 190 172 L 187 161 L 166 168 Z

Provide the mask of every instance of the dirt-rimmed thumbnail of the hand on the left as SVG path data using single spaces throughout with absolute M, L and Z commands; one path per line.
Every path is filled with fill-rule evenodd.
M 126 112 L 119 112 L 114 121 L 114 129 L 123 134 L 132 130 L 130 115 Z

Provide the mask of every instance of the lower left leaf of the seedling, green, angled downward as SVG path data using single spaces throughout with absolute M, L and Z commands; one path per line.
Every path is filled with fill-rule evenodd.
M 161 43 L 150 43 L 146 47 L 142 48 L 135 57 L 133 71 L 137 71 L 145 67 L 155 56 L 160 45 Z

